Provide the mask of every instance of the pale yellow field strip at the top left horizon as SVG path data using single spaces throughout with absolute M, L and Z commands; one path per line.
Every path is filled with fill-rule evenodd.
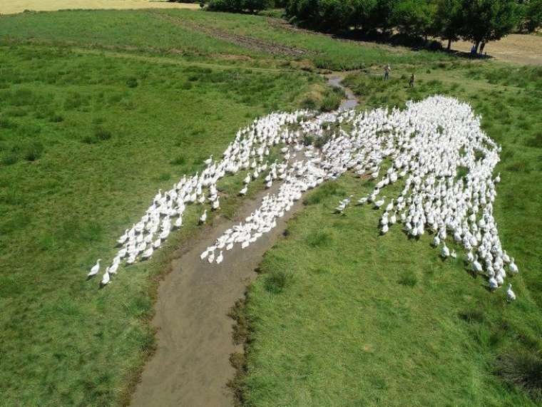
M 148 0 L 1 0 L 0 14 L 64 9 L 199 9 L 198 4 Z

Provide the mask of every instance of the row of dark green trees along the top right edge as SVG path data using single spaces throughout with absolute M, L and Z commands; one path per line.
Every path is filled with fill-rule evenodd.
M 284 7 L 288 18 L 327 32 L 402 34 L 409 37 L 459 38 L 475 44 L 513 31 L 536 31 L 542 0 L 208 0 L 208 9 L 254 13 Z

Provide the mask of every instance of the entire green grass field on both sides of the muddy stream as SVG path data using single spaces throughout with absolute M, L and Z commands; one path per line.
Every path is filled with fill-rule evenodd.
M 387 62 L 394 79 L 384 86 L 373 66 Z M 503 145 L 495 209 L 521 267 L 518 301 L 486 292 L 459 261 L 440 262 L 427 239 L 409 241 L 397 227 L 378 237 L 368 207 L 331 215 L 346 191 L 370 187 L 344 177 L 307 197 L 250 288 L 247 404 L 535 403 L 534 391 L 497 373 L 503 356 L 542 349 L 540 69 L 168 10 L 0 18 L 0 404 L 126 403 L 153 348 L 157 279 L 198 214 L 107 289 L 84 280 L 88 268 L 111 257 L 158 188 L 203 168 L 258 115 L 336 107 L 318 68 L 361 67 L 374 75 L 347 83 L 362 108 L 446 93 L 484 115 Z

